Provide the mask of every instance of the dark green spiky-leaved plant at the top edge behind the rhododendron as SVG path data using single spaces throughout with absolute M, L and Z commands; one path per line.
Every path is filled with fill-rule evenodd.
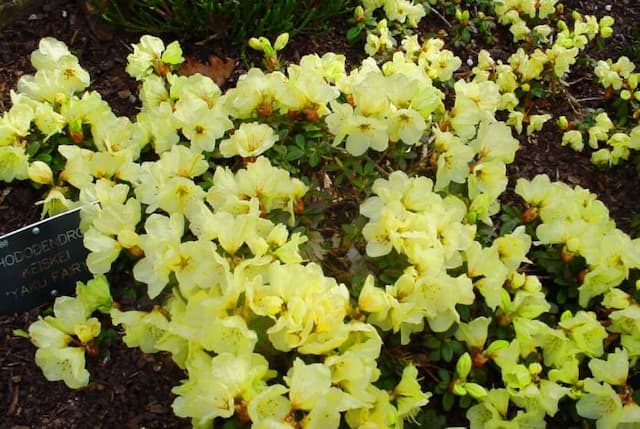
M 355 7 L 354 0 L 88 0 L 104 19 L 128 31 L 180 38 L 228 39 L 321 31 Z

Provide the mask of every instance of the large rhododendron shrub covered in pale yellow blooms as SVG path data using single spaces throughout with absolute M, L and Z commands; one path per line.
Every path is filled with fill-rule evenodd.
M 422 17 L 411 2 L 364 3 L 390 21 Z M 548 19 L 555 2 L 509 5 L 496 13 L 516 40 L 551 34 L 527 20 Z M 352 70 L 344 56 L 307 55 L 252 68 L 226 91 L 178 75 L 179 44 L 144 36 L 128 58 L 140 83 L 132 119 L 86 91 L 64 44 L 43 39 L 0 121 L 0 178 L 38 184 L 43 216 L 82 207 L 94 279 L 31 325 L 37 365 L 86 386 L 110 319 L 126 345 L 184 371 L 173 410 L 198 428 L 401 428 L 454 406 L 472 428 L 542 428 L 567 409 L 597 427 L 637 424 L 640 242 L 594 194 L 544 175 L 517 180 L 522 210 L 500 203 L 513 131 L 551 119 L 521 111 L 519 97 L 562 78 L 608 28 L 574 21 L 507 62 L 480 52 L 465 77 L 440 39 L 395 40 L 382 21 L 367 38 L 380 56 Z M 599 65 L 611 86 L 612 67 L 631 76 L 624 61 Z M 613 138 L 610 122 L 598 116 L 589 145 Z M 634 133 L 617 146 L 634 149 Z M 348 277 L 310 256 L 325 237 L 305 211 L 337 175 L 295 177 L 287 162 L 300 171 L 305 154 L 279 157 L 305 134 L 328 172 L 387 157 L 370 182 L 343 172 L 361 197 L 343 226 L 356 231 Z M 416 164 L 401 168 L 399 154 Z M 114 302 L 107 278 L 122 270 L 150 306 Z

